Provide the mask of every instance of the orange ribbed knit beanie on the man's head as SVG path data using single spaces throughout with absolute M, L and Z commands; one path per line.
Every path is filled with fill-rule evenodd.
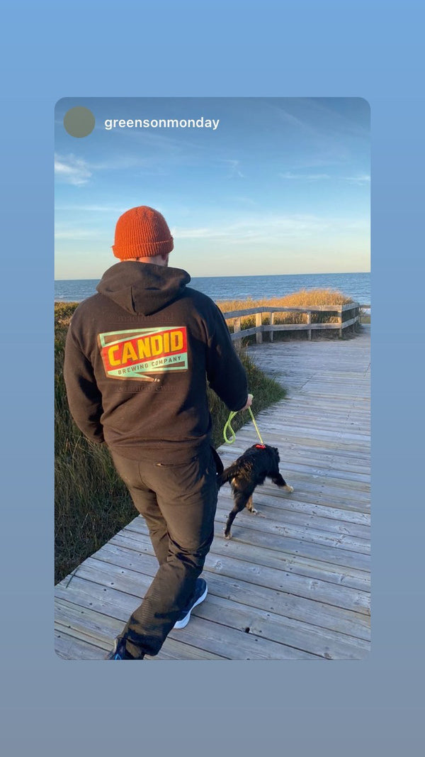
M 165 218 L 153 207 L 127 210 L 116 222 L 113 254 L 121 260 L 171 252 L 174 247 Z

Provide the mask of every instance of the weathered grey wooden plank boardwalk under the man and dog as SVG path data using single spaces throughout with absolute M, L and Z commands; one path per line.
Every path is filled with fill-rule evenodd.
M 249 351 L 288 390 L 257 420 L 294 491 L 257 489 L 261 515 L 240 513 L 225 541 L 222 488 L 208 597 L 154 659 L 360 659 L 370 646 L 369 329 Z M 250 423 L 221 447 L 223 462 L 255 442 Z M 55 587 L 57 654 L 103 659 L 156 570 L 138 516 Z

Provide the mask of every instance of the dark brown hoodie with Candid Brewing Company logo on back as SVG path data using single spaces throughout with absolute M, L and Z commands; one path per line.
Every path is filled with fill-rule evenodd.
M 178 268 L 116 263 L 76 308 L 64 378 L 73 419 L 119 455 L 185 462 L 209 444 L 206 380 L 229 410 L 247 377 L 219 308 Z

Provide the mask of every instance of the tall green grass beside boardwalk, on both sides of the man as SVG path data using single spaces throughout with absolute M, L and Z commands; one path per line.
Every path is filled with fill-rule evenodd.
M 54 306 L 55 581 L 73 571 L 137 515 L 107 448 L 87 441 L 68 410 L 62 366 L 67 328 L 75 308 L 76 303 Z M 240 357 L 254 395 L 255 414 L 284 397 L 284 389 L 266 377 L 244 351 Z M 213 444 L 217 447 L 223 441 L 228 409 L 213 391 L 208 397 Z M 249 420 L 249 413 L 239 413 L 232 423 L 234 430 Z

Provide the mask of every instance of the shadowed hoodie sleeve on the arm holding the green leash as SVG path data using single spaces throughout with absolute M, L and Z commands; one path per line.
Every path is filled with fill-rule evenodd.
M 206 376 L 209 386 L 229 410 L 243 410 L 250 404 L 247 374 L 234 350 L 223 314 L 214 307 L 214 326 L 206 350 Z

